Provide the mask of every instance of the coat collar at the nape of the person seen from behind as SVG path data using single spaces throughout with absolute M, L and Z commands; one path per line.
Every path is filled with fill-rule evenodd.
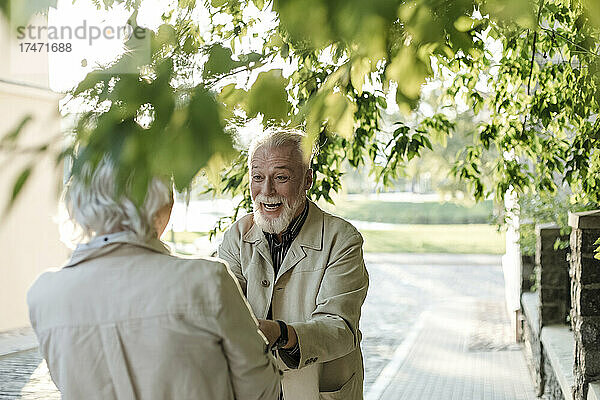
M 74 267 L 83 261 L 108 254 L 122 244 L 143 247 L 162 254 L 171 253 L 169 248 L 158 239 L 143 241 L 133 232 L 117 232 L 108 235 L 95 236 L 88 243 L 77 245 L 75 251 L 73 251 L 73 254 L 71 255 L 71 259 L 65 264 L 64 268 Z

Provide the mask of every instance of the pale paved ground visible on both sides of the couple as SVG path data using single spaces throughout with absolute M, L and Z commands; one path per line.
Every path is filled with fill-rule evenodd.
M 510 340 L 499 257 L 367 254 L 366 262 L 365 400 L 535 399 Z M 59 399 L 37 350 L 2 355 L 3 343 L 16 346 L 8 339 L 0 334 L 0 399 Z

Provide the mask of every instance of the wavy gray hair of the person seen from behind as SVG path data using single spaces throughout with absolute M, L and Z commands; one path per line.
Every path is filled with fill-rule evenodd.
M 117 195 L 114 165 L 104 159 L 92 171 L 87 165 L 72 176 L 64 192 L 71 222 L 81 229 L 81 240 L 98 234 L 133 232 L 146 241 L 155 235 L 153 219 L 158 210 L 173 201 L 172 189 L 158 178 L 148 184 L 144 204 L 136 207 L 126 194 Z

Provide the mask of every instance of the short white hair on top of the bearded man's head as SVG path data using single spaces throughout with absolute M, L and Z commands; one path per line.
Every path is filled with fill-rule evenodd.
M 296 128 L 270 127 L 255 137 L 248 147 L 248 169 L 252 169 L 252 158 L 260 147 L 269 149 L 292 146 L 302 157 L 305 168 L 310 167 L 315 147 L 308 142 L 306 134 Z

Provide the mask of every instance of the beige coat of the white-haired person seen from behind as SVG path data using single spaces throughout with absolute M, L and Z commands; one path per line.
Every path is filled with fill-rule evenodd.
M 64 399 L 278 398 L 275 359 L 216 259 L 176 258 L 128 233 L 103 236 L 42 274 L 28 303 Z

